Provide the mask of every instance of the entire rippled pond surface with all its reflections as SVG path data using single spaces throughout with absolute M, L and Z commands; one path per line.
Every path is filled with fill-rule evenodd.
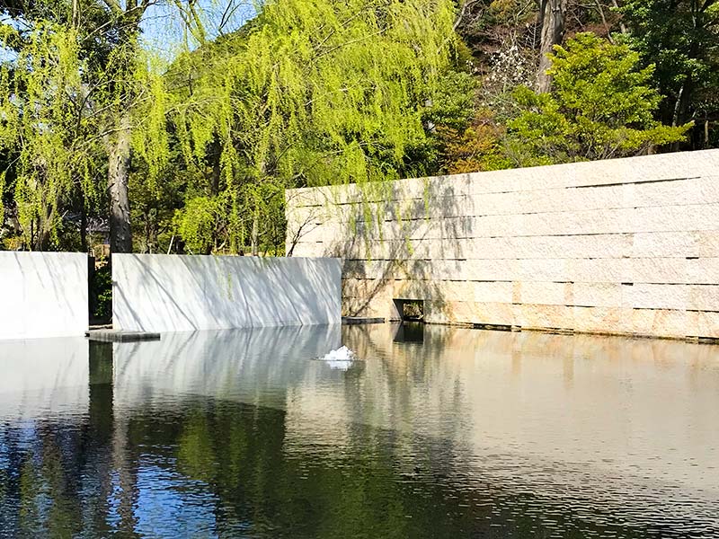
M 313 360 L 342 344 L 362 361 Z M 719 347 L 391 324 L 0 344 L 0 536 L 111 535 L 716 538 Z

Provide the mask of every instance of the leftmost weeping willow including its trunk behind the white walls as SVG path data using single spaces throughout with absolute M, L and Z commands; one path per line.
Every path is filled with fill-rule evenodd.
M 166 2 L 187 14 L 188 23 L 195 3 Z M 131 141 L 138 129 L 156 127 L 143 115 L 154 79 L 140 41 L 153 4 L 0 4 L 0 199 L 13 191 L 25 247 L 67 248 L 57 241 L 62 217 L 101 204 L 112 252 L 132 251 Z M 146 137 L 161 138 L 163 131 Z

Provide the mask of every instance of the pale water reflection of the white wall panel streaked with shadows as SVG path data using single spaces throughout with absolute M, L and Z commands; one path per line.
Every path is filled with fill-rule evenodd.
M 114 345 L 114 397 L 124 406 L 205 395 L 284 407 L 312 358 L 339 348 L 341 326 L 167 333 Z

